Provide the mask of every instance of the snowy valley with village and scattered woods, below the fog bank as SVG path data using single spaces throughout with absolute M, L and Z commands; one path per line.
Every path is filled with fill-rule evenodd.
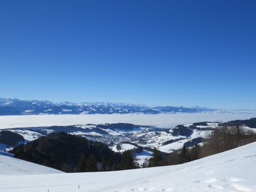
M 25 138 L 25 142 L 35 140 L 40 136 L 52 132 L 64 131 L 70 134 L 80 135 L 89 140 L 102 142 L 115 152 L 124 152 L 124 150 L 131 149 L 141 165 L 146 158 L 149 159 L 152 156 L 153 148 L 157 148 L 161 152 L 170 153 L 181 149 L 184 144 L 186 147 L 201 144 L 203 138 L 219 126 L 219 124 L 221 123 L 197 122 L 177 125 L 175 128 L 168 129 L 128 123 L 115 123 L 12 128 L 6 129 L 6 131 L 20 134 Z M 251 125 L 255 127 L 255 120 Z M 255 130 L 255 128 L 243 127 Z M 117 146 L 119 147 L 118 149 L 116 148 Z M 9 151 L 12 147 L 0 143 L 0 150 L 4 149 Z

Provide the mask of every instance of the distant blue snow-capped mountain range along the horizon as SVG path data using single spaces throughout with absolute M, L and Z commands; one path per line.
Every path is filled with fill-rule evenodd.
M 0 115 L 32 114 L 166 114 L 213 112 L 214 109 L 193 106 L 146 106 L 112 102 L 59 102 L 0 98 Z

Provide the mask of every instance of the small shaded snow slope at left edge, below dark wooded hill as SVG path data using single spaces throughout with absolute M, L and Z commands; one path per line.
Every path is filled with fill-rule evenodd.
M 24 175 L 24 174 L 31 175 L 31 174 L 50 174 L 50 173 L 63 173 L 63 172 L 53 168 L 46 167 L 46 166 L 12 158 L 10 156 L 0 155 L 0 178 L 6 175 Z M 2 182 L 0 182 L 0 185 L 1 184 Z

